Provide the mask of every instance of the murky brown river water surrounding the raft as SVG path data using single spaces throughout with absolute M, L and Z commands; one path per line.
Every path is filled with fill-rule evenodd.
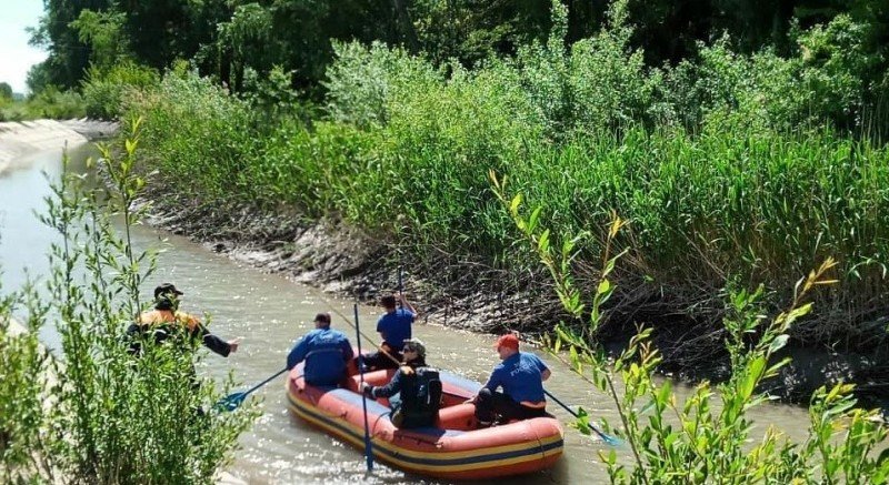
M 87 150 L 73 153 L 82 159 Z M 43 211 L 42 198 L 49 188 L 40 174 L 46 170 L 58 176 L 58 153 L 36 154 L 29 169 L 0 175 L 0 267 L 2 290 L 9 292 L 21 286 L 26 274 L 38 276 L 47 273 L 46 250 L 54 238 L 33 215 Z M 184 238 L 164 231 L 141 226 L 136 231 L 137 244 L 142 247 L 160 246 L 159 270 L 146 285 L 146 297 L 154 284 L 170 281 L 184 291 L 182 310 L 212 316 L 210 327 L 223 339 L 240 336 L 241 348 L 229 358 L 210 355 L 201 372 L 217 377 L 233 371 L 243 388 L 274 374 L 284 365 L 287 353 L 293 341 L 312 327 L 311 320 L 320 311 L 334 314 L 333 326 L 354 335 L 337 312 L 352 315 L 352 302 L 322 294 L 312 287 L 291 282 L 279 275 L 263 274 L 258 270 L 212 253 Z M 27 270 L 26 270 L 27 269 Z M 406 282 L 408 294 L 410 282 Z M 417 304 L 422 312 L 422 305 Z M 360 322 L 367 335 L 373 335 L 379 309 L 362 306 Z M 485 381 L 488 372 L 498 362 L 491 348 L 493 337 L 455 331 L 434 324 L 418 324 L 414 335 L 422 339 L 429 348 L 429 363 L 469 378 Z M 58 342 L 51 329 L 41 335 L 54 346 Z M 367 345 L 367 343 L 364 343 Z M 527 348 L 526 348 L 527 350 Z M 617 423 L 613 405 L 606 396 L 563 368 L 557 361 L 543 357 L 553 370 L 547 382 L 548 390 L 562 402 L 582 405 L 591 415 Z M 254 393 L 263 400 L 263 414 L 240 439 L 229 473 L 247 483 L 303 484 L 303 483 L 436 483 L 377 464 L 371 475 L 366 474 L 366 464 L 360 451 L 347 446 L 329 435 L 309 427 L 293 418 L 286 404 L 283 377 Z M 688 388 L 677 385 L 682 395 Z M 550 403 L 549 410 L 563 423 L 570 415 Z M 799 438 L 808 427 L 806 411 L 793 406 L 767 405 L 759 407 L 751 417 L 760 430 L 770 424 Z M 761 432 L 755 432 L 756 439 Z M 599 463 L 598 452 L 610 449 L 601 443 L 566 430 L 565 455 L 559 464 L 547 472 L 519 478 L 516 484 L 589 484 L 606 483 L 605 467 Z M 629 448 L 617 452 L 628 457 Z

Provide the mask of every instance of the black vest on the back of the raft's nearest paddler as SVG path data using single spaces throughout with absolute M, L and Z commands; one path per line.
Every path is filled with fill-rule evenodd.
M 401 407 L 392 413 L 398 427 L 432 426 L 441 408 L 441 380 L 433 367 L 417 367 L 404 375 L 401 386 Z

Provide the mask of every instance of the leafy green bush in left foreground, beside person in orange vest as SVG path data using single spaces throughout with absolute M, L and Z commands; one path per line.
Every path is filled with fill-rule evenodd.
M 0 301 L 3 483 L 213 483 L 257 416 L 250 406 L 211 407 L 220 390 L 196 375 L 194 342 L 151 339 L 140 356 L 128 352 L 123 329 L 142 309 L 139 289 L 154 267 L 154 254 L 136 252 L 129 238 L 144 186 L 133 172 L 132 134 L 120 158 L 103 149 L 109 192 L 66 171 L 43 216 L 60 236 L 44 291 Z M 13 312 L 27 315 L 27 332 L 10 323 Z M 38 343 L 50 322 L 58 352 Z

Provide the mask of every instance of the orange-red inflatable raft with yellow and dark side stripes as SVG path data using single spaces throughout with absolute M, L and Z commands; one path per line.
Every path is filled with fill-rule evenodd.
M 382 385 L 394 371 L 364 374 Z M 374 459 L 406 472 L 451 479 L 520 475 L 552 466 L 561 456 L 563 431 L 553 417 L 536 417 L 478 428 L 475 405 L 463 404 L 481 387 L 448 372 L 440 373 L 442 408 L 437 426 L 399 430 L 389 420 L 388 400 L 368 400 L 368 423 Z M 346 387 L 317 387 L 302 378 L 302 364 L 287 380 L 290 411 L 310 424 L 359 448 L 364 447 L 364 416 L 359 376 Z

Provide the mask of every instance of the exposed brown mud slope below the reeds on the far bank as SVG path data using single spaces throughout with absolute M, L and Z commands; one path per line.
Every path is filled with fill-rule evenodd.
M 154 194 L 149 222 L 203 243 L 211 251 L 346 297 L 372 301 L 398 287 L 417 302 L 428 323 L 486 333 L 518 330 L 536 335 L 566 315 L 542 273 L 522 279 L 458 255 L 400 254 L 396 241 L 367 234 L 337 221 L 304 222 L 287 210 L 208 206 L 174 193 Z M 697 313 L 676 312 L 669 297 L 645 285 L 623 284 L 615 296 L 606 346 L 617 352 L 636 322 L 656 327 L 666 374 L 682 380 L 720 380 L 729 367 L 722 348 L 721 300 Z M 718 291 L 713 291 L 718 293 Z M 681 300 L 681 299 L 678 299 Z M 703 316 L 701 316 L 703 315 Z M 695 320 L 697 316 L 700 322 Z M 679 330 L 678 330 L 679 329 Z M 681 331 L 680 331 L 681 330 Z M 889 360 L 823 348 L 791 348 L 793 362 L 769 391 L 788 402 L 805 403 L 825 383 L 856 382 L 867 404 L 887 407 Z

